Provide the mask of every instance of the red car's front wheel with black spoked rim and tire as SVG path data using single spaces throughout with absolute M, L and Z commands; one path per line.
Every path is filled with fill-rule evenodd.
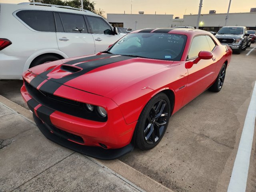
M 138 148 L 149 150 L 160 142 L 169 123 L 170 108 L 170 101 L 164 93 L 157 94 L 146 104 L 136 125 Z

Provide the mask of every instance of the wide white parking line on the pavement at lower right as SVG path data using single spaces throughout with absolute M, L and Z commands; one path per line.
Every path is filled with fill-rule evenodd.
M 247 110 L 228 192 L 245 192 L 256 117 L 256 82 Z

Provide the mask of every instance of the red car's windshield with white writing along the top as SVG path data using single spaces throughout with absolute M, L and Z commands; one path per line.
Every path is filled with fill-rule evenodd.
M 121 38 L 108 52 L 142 58 L 179 61 L 186 36 L 168 33 L 132 33 Z

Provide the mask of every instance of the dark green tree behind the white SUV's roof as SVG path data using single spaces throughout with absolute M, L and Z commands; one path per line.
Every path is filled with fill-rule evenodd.
M 33 2 L 33 0 L 29 0 Z M 35 0 L 35 2 L 44 3 L 44 4 L 53 4 L 53 5 L 61 5 L 61 6 L 70 6 L 74 8 L 81 9 L 81 0 Z M 84 9 L 94 12 L 102 17 L 104 17 L 104 10 L 95 9 L 95 2 L 91 0 L 83 0 Z M 105 18 L 105 17 L 104 17 Z

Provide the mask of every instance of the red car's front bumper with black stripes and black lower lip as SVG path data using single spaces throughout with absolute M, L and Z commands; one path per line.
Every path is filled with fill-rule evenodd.
M 97 100 L 103 106 L 101 102 L 105 102 L 109 106 L 108 120 L 87 120 L 54 110 L 52 106 L 44 106 L 42 100 L 32 97 L 33 94 L 28 92 L 24 83 L 21 88 L 22 97 L 33 112 L 38 127 L 48 139 L 104 160 L 118 158 L 133 150 L 132 136 L 137 122 L 126 124 L 119 107 L 112 100 L 66 86 L 60 87 L 58 92 L 65 98 L 77 95 L 80 102 L 96 104 L 94 102 Z M 82 98 L 86 98 L 86 101 Z

